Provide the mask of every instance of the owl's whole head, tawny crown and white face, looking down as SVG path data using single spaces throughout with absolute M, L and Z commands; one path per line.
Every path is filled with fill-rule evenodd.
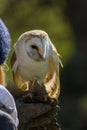
M 19 37 L 18 42 L 24 44 L 26 53 L 31 59 L 35 61 L 44 61 L 46 59 L 48 42 L 46 32 L 42 30 L 28 31 Z

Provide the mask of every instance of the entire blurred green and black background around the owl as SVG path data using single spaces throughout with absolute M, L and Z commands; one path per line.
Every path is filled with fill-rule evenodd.
M 87 130 L 87 1 L 0 0 L 0 17 L 11 34 L 11 50 L 20 34 L 45 30 L 62 56 L 58 115 L 62 130 Z M 14 86 L 5 67 L 8 86 Z

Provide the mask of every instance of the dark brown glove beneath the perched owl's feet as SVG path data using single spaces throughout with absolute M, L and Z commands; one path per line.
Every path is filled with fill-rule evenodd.
M 19 115 L 19 129 L 25 130 L 52 124 L 59 111 L 58 101 L 49 103 L 25 103 L 23 98 L 16 101 Z M 55 122 L 56 124 L 56 122 Z

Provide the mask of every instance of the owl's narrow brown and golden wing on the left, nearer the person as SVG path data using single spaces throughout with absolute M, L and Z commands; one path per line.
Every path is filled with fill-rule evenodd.
M 11 57 L 11 68 L 12 68 L 13 80 L 19 89 L 25 91 L 28 89 L 28 82 L 22 79 L 22 77 L 20 76 L 18 72 L 18 67 L 19 66 L 17 62 L 16 53 L 13 52 L 12 57 Z

